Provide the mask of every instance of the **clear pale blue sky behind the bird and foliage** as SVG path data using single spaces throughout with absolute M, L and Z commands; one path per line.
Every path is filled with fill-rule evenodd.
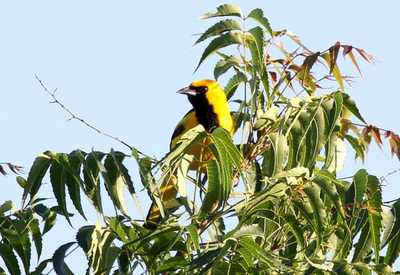
M 123 145 L 76 120 L 66 122 L 68 114 L 48 103 L 51 98 L 34 74 L 50 90 L 57 88 L 59 100 L 76 115 L 148 155 L 162 157 L 168 151 L 173 127 L 191 108 L 175 91 L 193 80 L 213 77 L 216 58 L 207 59 L 192 74 L 205 43 L 190 47 L 197 38 L 192 34 L 214 22 L 197 18 L 215 12 L 222 3 L 226 2 L 0 1 L 0 162 L 28 169 L 35 156 L 46 150 L 69 153 L 79 148 L 87 152 L 93 147 L 129 153 Z M 396 115 L 398 1 L 234 3 L 244 14 L 262 8 L 274 30 L 293 30 L 311 50 L 324 50 L 340 41 L 376 56 L 381 61 L 378 69 L 358 59 L 364 78 L 357 78 L 357 87 L 348 92 L 368 123 L 400 134 Z M 341 57 L 338 60 L 357 76 Z M 353 152 L 347 146 L 350 167 L 340 176 L 351 176 L 361 167 L 378 177 L 398 169 L 400 163 L 391 160 L 388 142 L 384 142 L 385 154 L 372 145 L 363 166 L 359 161 L 353 165 Z M 132 166 L 129 170 L 140 190 L 135 169 Z M 388 182 L 383 188 L 384 201 L 399 197 L 400 173 L 390 176 Z M 14 175 L 0 177 L 0 189 L 0 203 L 11 199 L 19 206 L 22 191 Z M 149 201 L 143 195 L 140 198 L 146 211 Z M 54 200 L 47 203 L 53 204 Z M 133 205 L 130 211 L 136 211 Z M 91 217 L 90 222 L 95 222 L 95 214 Z M 75 221 L 79 228 L 81 221 Z M 59 245 L 74 240 L 75 230 L 65 224 L 55 229 L 44 236 L 41 260 L 51 257 Z M 74 253 L 66 261 L 76 274 L 85 268 L 84 264 L 73 264 L 79 257 L 82 255 Z

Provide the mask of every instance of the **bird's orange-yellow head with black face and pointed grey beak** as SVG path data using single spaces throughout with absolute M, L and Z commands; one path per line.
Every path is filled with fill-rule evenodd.
M 226 102 L 226 95 L 219 84 L 214 80 L 203 79 L 190 83 L 186 88 L 180 89 L 177 93 L 187 95 L 191 105 L 196 108 L 197 104 L 208 102 L 211 105 Z

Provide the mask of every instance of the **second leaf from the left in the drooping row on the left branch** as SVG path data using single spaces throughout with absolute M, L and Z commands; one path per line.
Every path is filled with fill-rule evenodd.
M 52 162 L 50 167 L 50 181 L 54 197 L 57 200 L 57 204 L 61 209 L 61 213 L 64 215 L 68 224 L 72 227 L 65 202 L 66 173 L 67 172 L 65 171 L 65 169 L 63 169 L 58 162 Z

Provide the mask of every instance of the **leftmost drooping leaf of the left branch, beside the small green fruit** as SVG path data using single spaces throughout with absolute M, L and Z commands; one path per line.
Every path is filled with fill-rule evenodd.
M 44 154 L 39 154 L 34 160 L 32 167 L 29 170 L 28 178 L 26 180 L 26 187 L 23 189 L 21 208 L 23 208 L 28 194 L 30 194 L 31 200 L 36 195 L 37 191 L 40 188 L 44 174 L 50 166 L 50 163 L 51 158 Z

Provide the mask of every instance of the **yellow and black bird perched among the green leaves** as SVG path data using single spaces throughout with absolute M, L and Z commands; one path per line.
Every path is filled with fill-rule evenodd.
M 234 133 L 234 122 L 230 114 L 226 95 L 221 89 L 219 84 L 213 80 L 204 79 L 192 82 L 188 87 L 183 88 L 177 93 L 187 95 L 187 98 L 193 108 L 179 121 L 173 130 L 171 143 L 169 144 L 172 149 L 179 141 L 180 137 L 191 128 L 201 124 L 205 130 L 212 132 L 214 129 L 220 127 L 230 132 L 232 136 Z M 205 145 L 211 142 L 206 140 Z M 191 148 L 188 152 L 193 155 L 196 160 L 189 165 L 189 170 L 197 170 L 200 165 L 200 172 L 206 172 L 204 161 L 214 158 L 211 151 L 205 146 L 198 144 Z M 162 202 L 166 203 L 174 199 L 177 195 L 177 190 L 171 181 L 164 180 L 160 186 L 160 194 Z M 154 229 L 155 224 L 160 217 L 159 209 L 156 205 L 151 204 L 148 211 L 145 227 Z

